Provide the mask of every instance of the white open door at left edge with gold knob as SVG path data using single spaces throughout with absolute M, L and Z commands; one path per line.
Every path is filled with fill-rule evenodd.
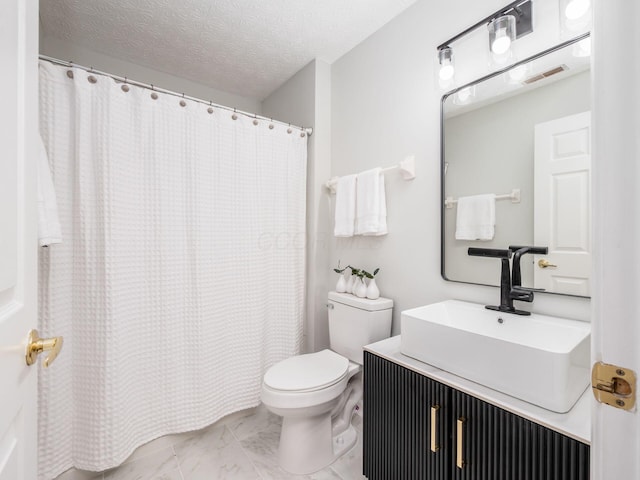
M 36 326 L 38 2 L 0 15 L 0 480 L 35 480 L 37 369 L 25 362 Z

